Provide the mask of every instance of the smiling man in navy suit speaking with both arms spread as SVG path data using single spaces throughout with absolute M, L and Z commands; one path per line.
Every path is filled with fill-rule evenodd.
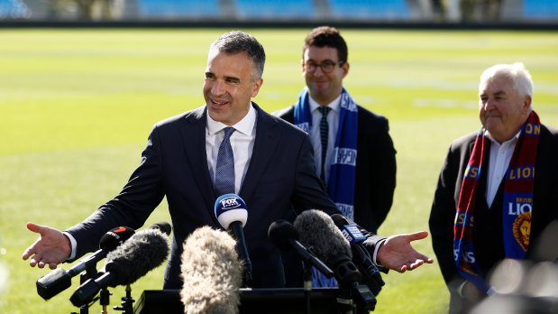
M 171 253 L 163 288 L 179 289 L 182 244 L 199 226 L 220 225 L 215 217 L 215 168 L 224 128 L 233 126 L 234 192 L 246 203 L 244 235 L 252 260 L 252 287 L 284 285 L 279 251 L 268 239 L 270 224 L 291 210 L 318 208 L 339 213 L 320 186 L 312 145 L 306 133 L 265 113 L 252 102 L 263 82 L 265 53 L 245 32 L 227 32 L 212 43 L 207 57 L 206 105 L 154 125 L 142 162 L 121 193 L 65 232 L 29 223 L 41 234 L 24 253 L 31 266 L 51 269 L 95 251 L 99 239 L 115 226 L 139 228 L 163 197 L 172 219 Z M 416 252 L 411 241 L 427 232 L 369 234 L 366 245 L 384 266 L 405 272 L 432 259 Z

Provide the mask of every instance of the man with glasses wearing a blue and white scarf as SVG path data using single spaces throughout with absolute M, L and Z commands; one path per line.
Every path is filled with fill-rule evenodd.
M 396 151 L 388 119 L 358 106 L 343 88 L 347 54 L 337 29 L 312 30 L 302 49 L 306 88 L 294 106 L 274 114 L 310 134 L 316 171 L 330 198 L 344 216 L 376 232 L 393 201 Z M 325 277 L 313 283 L 335 285 Z

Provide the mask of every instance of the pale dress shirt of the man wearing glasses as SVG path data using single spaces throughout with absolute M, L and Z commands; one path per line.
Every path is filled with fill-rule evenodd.
M 316 171 L 322 169 L 322 139 L 320 135 L 320 121 L 322 120 L 322 113 L 317 109 L 320 104 L 312 97 L 308 97 L 308 104 L 310 105 L 310 113 L 312 114 L 312 129 L 310 130 L 310 141 L 314 147 L 314 160 L 316 162 Z M 324 175 L 325 182 L 329 180 L 329 168 L 334 158 L 334 145 L 337 137 L 337 130 L 339 129 L 339 107 L 341 106 L 341 94 L 334 99 L 331 103 L 327 104 L 331 108 L 327 114 L 327 124 L 329 125 L 329 133 L 327 135 L 327 151 L 325 152 L 325 165 Z M 318 173 L 318 177 L 321 173 Z

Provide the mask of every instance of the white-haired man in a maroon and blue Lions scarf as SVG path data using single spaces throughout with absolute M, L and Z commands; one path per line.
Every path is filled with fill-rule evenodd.
M 532 101 L 523 63 L 486 69 L 482 127 L 455 140 L 445 159 L 429 224 L 451 313 L 496 292 L 487 276 L 499 261 L 540 258 L 534 248 L 558 220 L 558 130 L 540 123 Z

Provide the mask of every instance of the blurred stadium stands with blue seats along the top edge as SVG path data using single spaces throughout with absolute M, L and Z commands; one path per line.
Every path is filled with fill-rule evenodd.
M 556 0 L 0 0 L 1 23 L 554 25 Z

